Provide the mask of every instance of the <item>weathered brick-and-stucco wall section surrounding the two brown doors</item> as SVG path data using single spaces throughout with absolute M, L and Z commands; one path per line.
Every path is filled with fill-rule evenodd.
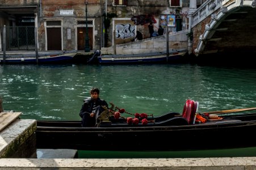
M 101 6 L 100 0 L 89 0 L 87 5 L 87 18 L 88 20 L 93 19 L 94 25 L 91 24 L 88 27 L 92 27 L 94 39 L 91 43 L 93 43 L 94 49 L 100 48 L 100 32 L 102 30 L 102 18 L 101 18 Z M 73 14 L 71 15 L 63 15 L 60 11 L 63 10 L 73 10 Z M 63 49 L 64 50 L 74 50 L 77 48 L 77 39 L 79 36 L 76 32 L 77 20 L 83 20 L 85 22 L 85 1 L 76 0 L 76 1 L 51 1 L 51 0 L 43 0 L 42 1 L 42 16 L 39 20 L 39 40 L 40 49 L 44 50 L 46 44 L 45 37 L 45 19 L 62 19 L 63 20 Z M 82 25 L 85 27 L 85 24 Z M 68 39 L 67 30 L 71 30 L 71 39 Z

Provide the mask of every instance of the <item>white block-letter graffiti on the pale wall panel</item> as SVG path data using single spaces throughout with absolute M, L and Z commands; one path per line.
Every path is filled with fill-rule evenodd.
M 131 24 L 116 24 L 116 39 L 128 39 L 135 36 L 135 26 Z

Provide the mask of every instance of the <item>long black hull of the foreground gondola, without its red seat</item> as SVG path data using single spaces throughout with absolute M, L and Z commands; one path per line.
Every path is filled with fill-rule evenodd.
M 253 115 L 255 118 L 256 114 Z M 116 125 L 99 128 L 82 128 L 80 122 L 56 127 L 39 124 L 36 130 L 37 148 L 178 151 L 253 147 L 256 146 L 256 139 L 251 138 L 251 131 L 256 130 L 256 121 L 249 119 L 229 117 L 195 125 Z

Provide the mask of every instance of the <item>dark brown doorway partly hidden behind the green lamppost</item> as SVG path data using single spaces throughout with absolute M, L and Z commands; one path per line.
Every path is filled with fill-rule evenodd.
M 77 50 L 85 50 L 86 27 L 77 28 Z M 93 28 L 88 28 L 89 46 L 93 49 Z

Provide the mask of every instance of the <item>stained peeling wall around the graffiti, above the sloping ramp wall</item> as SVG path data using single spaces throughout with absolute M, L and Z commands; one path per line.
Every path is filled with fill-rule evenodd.
M 114 44 L 114 40 L 112 39 L 115 39 L 115 35 L 113 35 L 113 32 L 114 30 L 116 31 L 116 28 L 115 28 L 116 19 L 119 19 L 119 18 L 131 19 L 135 16 L 137 18 L 140 18 L 140 16 L 142 16 L 141 18 L 143 18 L 143 16 L 151 15 L 152 19 L 156 21 L 156 23 L 154 23 L 153 25 L 154 25 L 154 31 L 157 32 L 160 25 L 161 15 L 177 14 L 177 17 L 182 18 L 182 30 L 185 30 L 188 27 L 188 18 L 187 18 L 187 13 L 189 9 L 188 6 L 189 6 L 189 0 L 182 1 L 182 7 L 170 7 L 169 1 L 154 1 L 154 0 L 128 1 L 127 6 L 108 6 L 108 12 L 114 13 L 117 15 L 117 17 L 112 20 L 112 22 L 115 22 L 115 24 L 113 25 L 111 23 L 111 27 L 108 28 L 107 30 L 109 35 L 108 46 L 112 46 Z M 179 14 L 177 13 L 177 10 L 179 11 Z M 136 31 L 139 30 L 142 33 L 144 39 L 148 39 L 150 37 L 148 25 L 150 20 L 152 19 L 148 17 L 148 18 L 145 18 L 144 20 L 142 19 L 142 22 L 140 24 L 131 25 L 131 27 L 136 26 L 135 32 L 133 32 L 132 35 L 135 35 Z M 119 24 L 125 25 L 125 23 L 121 23 L 121 22 L 119 22 Z M 170 27 L 169 30 L 170 32 L 176 32 L 176 26 Z M 125 39 L 123 40 L 125 42 L 131 41 L 130 37 L 127 37 Z M 116 44 L 119 44 L 119 41 L 120 40 L 117 39 Z

